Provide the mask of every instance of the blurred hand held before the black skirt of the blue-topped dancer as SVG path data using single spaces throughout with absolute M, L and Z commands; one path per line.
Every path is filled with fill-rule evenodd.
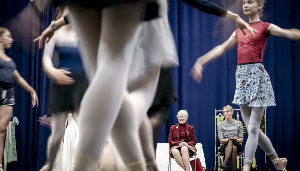
M 73 78 L 67 76 L 67 74 L 71 74 L 70 71 L 53 68 L 48 72 L 49 72 L 49 76 L 51 77 L 52 81 L 55 84 L 70 85 L 75 82 Z

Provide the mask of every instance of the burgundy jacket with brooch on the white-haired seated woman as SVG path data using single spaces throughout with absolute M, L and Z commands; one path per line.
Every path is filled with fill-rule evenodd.
M 195 135 L 195 129 L 193 126 L 188 125 L 186 123 L 185 125 L 185 131 L 187 133 L 187 137 L 188 140 L 184 140 L 184 142 L 186 142 L 187 144 L 191 145 L 191 146 L 195 146 L 197 144 L 197 138 Z M 176 125 L 172 125 L 170 127 L 170 133 L 169 133 L 169 144 L 171 147 L 175 146 L 175 145 L 179 145 L 179 123 Z

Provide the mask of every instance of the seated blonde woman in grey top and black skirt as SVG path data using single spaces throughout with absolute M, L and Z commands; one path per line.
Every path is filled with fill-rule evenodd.
M 218 136 L 221 142 L 219 152 L 225 153 L 221 169 L 226 169 L 230 159 L 232 171 L 235 171 L 237 153 L 242 152 L 243 126 L 241 121 L 232 118 L 233 109 L 230 105 L 223 107 L 225 120 L 218 124 Z

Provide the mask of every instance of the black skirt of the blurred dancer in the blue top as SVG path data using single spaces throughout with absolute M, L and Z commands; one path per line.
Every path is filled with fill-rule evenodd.
M 51 83 L 47 117 L 51 114 L 79 110 L 81 99 L 88 87 L 85 74 L 70 74 L 75 82 L 70 85 Z

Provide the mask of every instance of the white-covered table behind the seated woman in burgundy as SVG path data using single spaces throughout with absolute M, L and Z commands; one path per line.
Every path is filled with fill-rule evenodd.
M 202 144 L 197 143 L 196 149 L 197 149 L 196 158 L 200 158 L 202 167 L 206 167 Z M 190 160 L 192 160 L 192 158 Z M 156 162 L 158 164 L 158 169 L 160 171 L 168 171 L 168 164 L 169 164 L 169 144 L 168 143 L 158 143 L 157 144 Z M 182 171 L 183 170 L 176 163 L 175 159 L 171 159 L 171 163 L 172 163 L 172 171 Z M 190 170 L 192 170 L 191 165 L 190 165 Z

